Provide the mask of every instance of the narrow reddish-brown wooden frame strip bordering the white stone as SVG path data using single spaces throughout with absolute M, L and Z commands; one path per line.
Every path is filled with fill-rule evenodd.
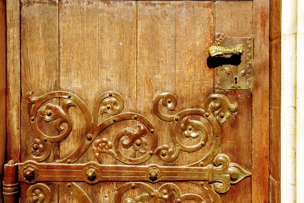
M 281 202 L 281 1 L 270 5 L 269 202 Z

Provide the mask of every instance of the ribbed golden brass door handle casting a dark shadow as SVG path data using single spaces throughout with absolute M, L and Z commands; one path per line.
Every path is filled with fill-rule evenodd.
M 209 48 L 209 55 L 211 57 L 225 55 L 225 54 L 242 55 L 243 52 L 244 52 L 243 44 L 237 44 L 232 48 L 221 47 L 221 46 L 211 46 Z

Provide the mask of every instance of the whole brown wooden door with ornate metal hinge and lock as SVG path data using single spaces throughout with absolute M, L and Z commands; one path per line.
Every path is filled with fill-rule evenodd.
M 268 202 L 268 1 L 7 16 L 5 202 Z

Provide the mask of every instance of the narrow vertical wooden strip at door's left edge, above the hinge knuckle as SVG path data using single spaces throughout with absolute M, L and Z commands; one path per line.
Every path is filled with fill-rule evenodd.
M 20 162 L 20 5 L 7 2 L 7 159 Z

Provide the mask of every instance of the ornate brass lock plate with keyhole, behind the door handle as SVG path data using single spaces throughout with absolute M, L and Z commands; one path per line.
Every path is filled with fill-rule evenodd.
M 215 67 L 215 93 L 223 93 L 227 89 L 245 89 L 252 93 L 253 80 L 253 38 L 231 38 L 223 33 L 215 34 L 215 44 L 221 47 L 244 45 L 241 55 L 222 55 L 212 58 Z

